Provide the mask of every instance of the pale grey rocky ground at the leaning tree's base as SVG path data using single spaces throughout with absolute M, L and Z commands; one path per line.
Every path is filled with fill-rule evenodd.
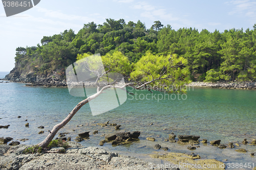
M 80 143 L 69 141 L 70 148 L 65 153 L 23 154 L 31 147 L 20 144 L 10 147 L 0 145 L 0 169 L 179 169 L 150 168 L 146 162 L 130 156 L 118 155 L 103 149 L 84 148 Z M 64 148 L 52 148 L 51 151 L 61 151 Z

